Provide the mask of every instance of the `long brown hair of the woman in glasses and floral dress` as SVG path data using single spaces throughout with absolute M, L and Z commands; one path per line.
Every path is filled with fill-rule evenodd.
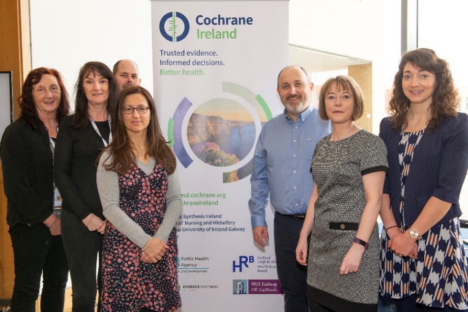
M 117 106 L 112 119 L 112 129 L 114 130 L 112 143 L 105 149 L 109 151 L 111 162 L 104 165 L 104 168 L 109 171 L 115 171 L 118 174 L 124 174 L 132 169 L 135 164 L 135 156 L 132 153 L 132 142 L 128 137 L 127 129 L 123 121 L 122 107 L 125 102 L 125 97 L 130 94 L 142 94 L 149 106 L 149 125 L 146 128 L 146 156 L 152 156 L 156 159 L 168 173 L 168 175 L 175 171 L 175 155 L 171 148 L 167 145 L 159 126 L 158 116 L 156 113 L 156 106 L 154 100 L 149 92 L 140 86 L 127 87 L 122 90 L 117 99 Z

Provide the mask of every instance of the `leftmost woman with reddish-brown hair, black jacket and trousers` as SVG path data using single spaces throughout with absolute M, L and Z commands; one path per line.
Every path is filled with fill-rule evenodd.
M 21 116 L 5 129 L 0 147 L 15 264 L 11 311 L 35 311 L 42 274 L 41 311 L 59 312 L 68 266 L 53 161 L 58 126 L 70 109 L 60 73 L 44 67 L 32 70 L 18 101 Z

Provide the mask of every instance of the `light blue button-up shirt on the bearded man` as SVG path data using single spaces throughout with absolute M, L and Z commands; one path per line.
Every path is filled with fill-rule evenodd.
M 266 226 L 265 205 L 283 215 L 307 212 L 314 188 L 310 163 L 315 145 L 331 132 L 330 122 L 309 106 L 297 122 L 283 114 L 263 125 L 254 154 L 249 200 L 252 227 Z

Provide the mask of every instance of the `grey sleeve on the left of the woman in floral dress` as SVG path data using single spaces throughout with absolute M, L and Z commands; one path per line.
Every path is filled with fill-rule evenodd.
M 103 209 L 102 213 L 120 233 L 128 237 L 128 239 L 138 247 L 143 248 L 150 236 L 145 233 L 140 225 L 120 209 L 118 175 L 116 172 L 107 171 L 103 167 L 104 161 L 106 161 L 108 157 L 109 154 L 106 151 L 101 156 L 101 159 L 99 159 L 96 173 L 97 189 L 99 191 L 99 197 L 101 198 Z

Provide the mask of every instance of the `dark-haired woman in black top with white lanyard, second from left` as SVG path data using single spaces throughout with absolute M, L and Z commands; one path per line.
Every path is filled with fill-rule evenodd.
M 88 62 L 81 68 L 75 88 L 75 113 L 60 126 L 54 173 L 63 198 L 63 247 L 70 267 L 73 311 L 88 312 L 94 311 L 96 261 L 106 224 L 97 192 L 95 160 L 112 141 L 111 113 L 118 86 L 109 67 Z

